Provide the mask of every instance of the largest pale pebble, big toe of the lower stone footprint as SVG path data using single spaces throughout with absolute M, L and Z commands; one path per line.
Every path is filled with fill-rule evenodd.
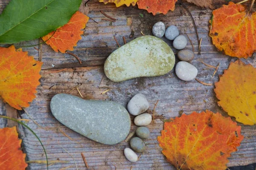
M 136 94 L 131 100 L 128 102 L 127 110 L 130 114 L 137 116 L 146 110 L 148 110 L 149 103 L 146 97 L 143 94 Z

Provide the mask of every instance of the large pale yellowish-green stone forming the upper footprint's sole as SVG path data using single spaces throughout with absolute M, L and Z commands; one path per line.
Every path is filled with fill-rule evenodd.
M 166 42 L 154 36 L 143 36 L 114 51 L 104 64 L 104 71 L 113 82 L 121 82 L 164 75 L 174 64 L 174 53 Z

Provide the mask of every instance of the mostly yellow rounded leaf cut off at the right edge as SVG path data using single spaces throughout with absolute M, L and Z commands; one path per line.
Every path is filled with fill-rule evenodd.
M 240 60 L 231 62 L 220 81 L 215 83 L 215 94 L 220 105 L 236 121 L 244 125 L 256 124 L 256 68 Z

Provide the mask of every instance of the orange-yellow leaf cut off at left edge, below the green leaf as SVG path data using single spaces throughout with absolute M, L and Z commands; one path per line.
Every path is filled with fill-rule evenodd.
M 42 64 L 14 45 L 0 47 L 0 97 L 18 110 L 28 107 L 40 85 Z

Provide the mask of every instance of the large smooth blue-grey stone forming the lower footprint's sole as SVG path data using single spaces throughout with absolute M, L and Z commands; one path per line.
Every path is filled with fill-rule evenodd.
M 53 116 L 63 125 L 102 144 L 125 140 L 131 128 L 128 111 L 116 102 L 56 94 L 52 97 L 50 108 Z

